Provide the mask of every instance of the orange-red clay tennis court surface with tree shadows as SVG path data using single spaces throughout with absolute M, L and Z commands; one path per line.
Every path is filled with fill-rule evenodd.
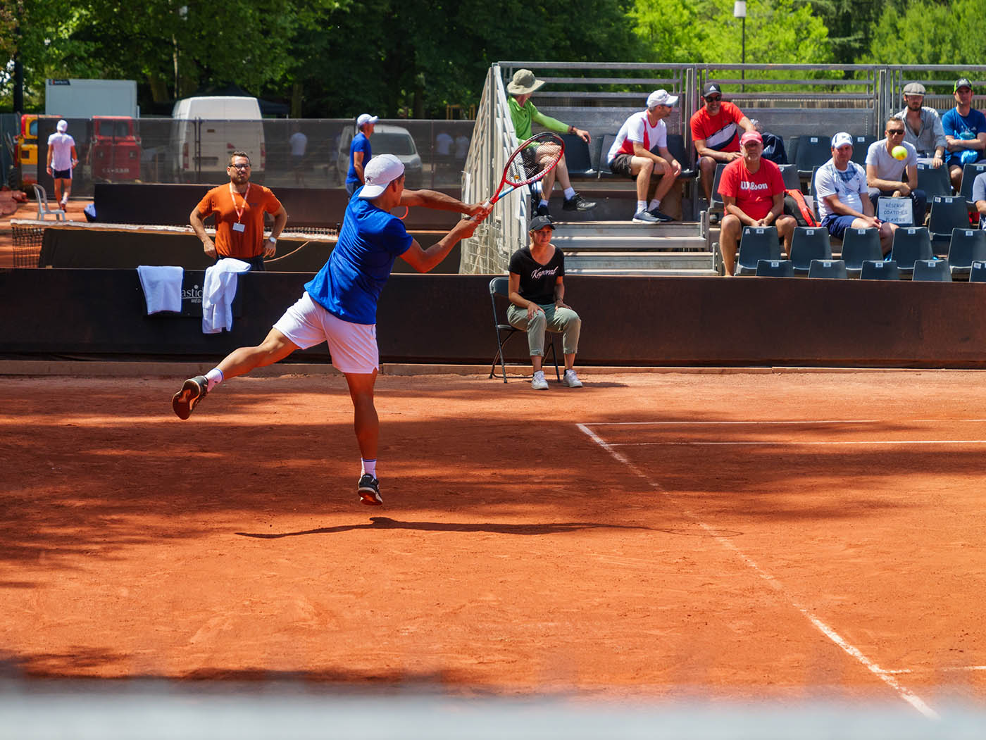
M 583 377 L 5 377 L 6 677 L 981 706 L 981 372 Z

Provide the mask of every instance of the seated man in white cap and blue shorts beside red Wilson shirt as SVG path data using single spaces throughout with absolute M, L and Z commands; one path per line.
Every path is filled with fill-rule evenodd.
M 842 238 L 847 229 L 879 229 L 883 254 L 890 251 L 897 227 L 874 215 L 866 172 L 852 161 L 853 137 L 840 131 L 832 137 L 832 159 L 818 168 L 813 192 L 818 199 L 821 226 Z

